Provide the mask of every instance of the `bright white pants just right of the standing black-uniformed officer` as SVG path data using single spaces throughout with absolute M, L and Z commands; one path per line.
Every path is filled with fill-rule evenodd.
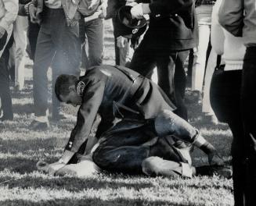
M 205 71 L 206 52 L 210 37 L 211 26 L 208 24 L 200 24 L 199 44 L 197 52 L 194 52 L 194 63 L 192 70 L 192 91 L 202 91 Z

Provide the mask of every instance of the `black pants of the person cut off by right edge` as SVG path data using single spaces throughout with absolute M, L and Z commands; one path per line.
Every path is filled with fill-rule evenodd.
M 247 151 L 246 205 L 256 203 L 256 47 L 249 47 L 243 59 L 241 112 Z

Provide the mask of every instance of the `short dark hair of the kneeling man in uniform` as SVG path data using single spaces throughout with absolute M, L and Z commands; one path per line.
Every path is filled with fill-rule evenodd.
M 62 101 L 60 99 L 60 94 L 63 96 L 69 94 L 70 86 L 74 85 L 77 80 L 78 80 L 77 76 L 74 76 L 74 75 L 68 75 L 68 74 L 59 75 L 55 83 L 56 98 L 59 101 Z

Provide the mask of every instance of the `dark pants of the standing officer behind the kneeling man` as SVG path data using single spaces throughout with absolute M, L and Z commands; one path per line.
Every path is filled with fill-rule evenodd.
M 164 49 L 150 48 L 150 42 L 142 41 L 135 50 L 130 68 L 149 77 L 153 68 L 157 66 L 158 85 L 175 102 L 175 113 L 183 119 L 188 119 L 184 104 L 186 90 L 186 73 L 184 62 L 189 55 L 186 51 L 164 51 Z

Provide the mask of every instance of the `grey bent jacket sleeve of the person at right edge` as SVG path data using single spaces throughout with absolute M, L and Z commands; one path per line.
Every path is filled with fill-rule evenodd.
M 224 0 L 218 12 L 219 23 L 236 37 L 243 34 L 243 0 Z

